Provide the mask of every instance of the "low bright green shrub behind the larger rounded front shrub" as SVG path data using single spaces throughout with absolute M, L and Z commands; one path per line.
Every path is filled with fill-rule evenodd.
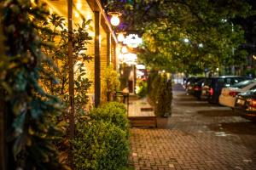
M 111 122 L 127 133 L 129 136 L 129 121 L 124 104 L 118 102 L 108 102 L 101 107 L 90 111 L 89 116 L 96 121 Z

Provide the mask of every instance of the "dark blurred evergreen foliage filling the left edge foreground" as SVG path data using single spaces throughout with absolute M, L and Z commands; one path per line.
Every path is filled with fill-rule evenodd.
M 5 55 L 0 57 L 0 91 L 9 141 L 9 166 L 14 169 L 62 169 L 55 150 L 55 140 L 61 131 L 55 126 L 55 116 L 61 114 L 61 103 L 44 92 L 38 83 L 40 76 L 55 82 L 41 63 L 51 60 L 41 48 L 38 26 L 33 20 L 46 21 L 45 5 L 35 1 L 9 0 L 1 2 Z

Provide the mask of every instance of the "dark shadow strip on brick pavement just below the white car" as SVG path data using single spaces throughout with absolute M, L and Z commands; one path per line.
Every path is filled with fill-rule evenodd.
M 203 110 L 197 113 L 203 116 L 237 116 L 232 110 Z

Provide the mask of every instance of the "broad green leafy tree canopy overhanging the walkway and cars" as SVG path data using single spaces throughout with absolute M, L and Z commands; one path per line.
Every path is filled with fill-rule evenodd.
M 125 23 L 118 29 L 143 33 L 140 59 L 152 67 L 196 73 L 206 67 L 239 63 L 246 55 L 238 48 L 244 42 L 244 31 L 233 22 L 253 14 L 245 0 L 127 0 L 110 4 L 125 8 Z

